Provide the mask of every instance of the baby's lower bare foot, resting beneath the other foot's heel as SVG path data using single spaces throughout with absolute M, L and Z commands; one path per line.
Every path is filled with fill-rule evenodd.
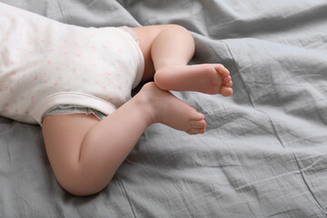
M 156 84 L 144 84 L 139 94 L 147 97 L 149 113 L 153 123 L 166 124 L 187 134 L 203 134 L 206 123 L 204 115 L 184 103 L 168 91 L 159 89 Z

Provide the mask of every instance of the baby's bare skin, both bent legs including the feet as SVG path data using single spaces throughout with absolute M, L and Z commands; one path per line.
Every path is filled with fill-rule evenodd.
M 193 37 L 182 26 L 133 28 L 144 54 L 146 82 L 141 91 L 113 114 L 99 121 L 94 115 L 48 115 L 43 123 L 45 148 L 55 178 L 69 193 L 100 192 L 137 143 L 155 123 L 187 134 L 203 134 L 204 115 L 169 92 L 233 94 L 230 72 L 223 64 L 188 65 Z

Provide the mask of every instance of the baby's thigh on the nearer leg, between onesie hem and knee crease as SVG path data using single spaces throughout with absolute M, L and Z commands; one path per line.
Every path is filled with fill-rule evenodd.
M 69 173 L 74 173 L 84 137 L 98 122 L 93 114 L 53 114 L 45 117 L 42 133 L 46 154 L 59 183 L 64 183 L 62 180 Z

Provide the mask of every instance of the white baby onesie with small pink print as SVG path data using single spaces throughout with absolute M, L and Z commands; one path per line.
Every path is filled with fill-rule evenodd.
M 1 3 L 0 42 L 0 115 L 28 124 L 62 104 L 111 114 L 144 72 L 141 49 L 120 28 L 64 25 Z

